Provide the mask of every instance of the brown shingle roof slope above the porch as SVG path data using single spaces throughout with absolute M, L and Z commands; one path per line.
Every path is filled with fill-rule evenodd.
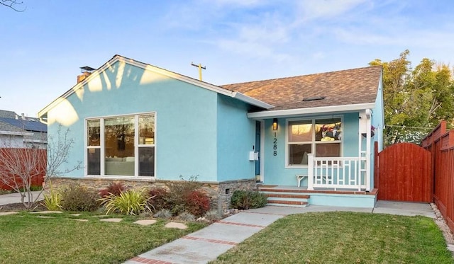
M 381 71 L 381 66 L 374 66 L 221 87 L 275 105 L 270 110 L 375 103 Z M 303 101 L 319 96 L 325 98 Z

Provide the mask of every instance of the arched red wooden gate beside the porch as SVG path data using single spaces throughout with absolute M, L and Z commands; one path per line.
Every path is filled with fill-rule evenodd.
M 394 144 L 376 151 L 375 163 L 379 200 L 431 202 L 430 151 L 411 143 Z

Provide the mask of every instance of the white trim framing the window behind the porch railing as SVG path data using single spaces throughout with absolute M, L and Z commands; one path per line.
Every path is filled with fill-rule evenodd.
M 341 118 L 341 124 L 342 124 L 342 133 L 344 133 L 344 122 L 343 122 L 343 115 L 323 115 L 323 116 L 317 116 L 317 117 L 297 117 L 297 118 L 287 118 L 287 120 L 285 120 L 285 167 L 284 168 L 297 168 L 297 169 L 301 169 L 301 168 L 308 168 L 309 166 L 308 165 L 301 165 L 301 164 L 297 164 L 297 165 L 290 165 L 289 164 L 289 122 L 292 122 L 292 121 L 307 121 L 307 120 L 311 120 L 312 121 L 312 125 L 315 124 L 315 120 L 319 120 L 319 119 L 329 119 L 329 118 Z M 341 143 L 341 157 L 343 156 L 343 139 L 345 137 L 345 134 L 342 135 L 341 137 L 341 140 L 336 140 L 336 142 L 318 142 L 316 143 L 315 141 L 315 133 L 316 131 L 314 130 L 314 132 L 312 133 L 312 141 L 311 141 L 311 149 L 312 149 L 312 153 L 315 154 L 315 149 L 316 149 L 316 144 L 326 144 L 326 143 L 336 143 L 336 142 L 340 142 Z M 309 144 L 309 142 L 308 142 Z

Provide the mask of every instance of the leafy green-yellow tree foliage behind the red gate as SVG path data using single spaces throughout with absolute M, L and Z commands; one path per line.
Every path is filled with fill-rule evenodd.
M 383 67 L 385 144 L 419 143 L 440 120 L 454 117 L 452 69 L 427 58 L 412 68 L 409 53 L 391 62 L 370 62 Z

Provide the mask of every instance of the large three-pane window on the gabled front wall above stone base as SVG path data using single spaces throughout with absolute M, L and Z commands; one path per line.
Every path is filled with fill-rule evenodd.
M 87 120 L 87 175 L 155 176 L 155 114 Z

